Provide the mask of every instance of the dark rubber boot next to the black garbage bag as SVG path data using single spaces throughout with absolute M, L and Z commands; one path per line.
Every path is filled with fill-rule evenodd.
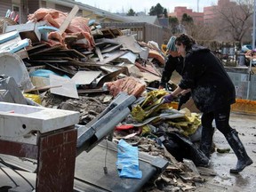
M 214 128 L 209 127 L 202 129 L 201 140 L 200 140 L 200 150 L 204 153 L 205 156 L 210 158 L 212 151 L 212 137 L 214 133 Z

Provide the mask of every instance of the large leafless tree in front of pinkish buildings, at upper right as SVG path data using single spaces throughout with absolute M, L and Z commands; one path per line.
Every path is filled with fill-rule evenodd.
M 252 33 L 253 0 L 236 0 L 216 6 L 215 26 L 220 40 L 243 43 Z M 252 37 L 251 37 L 252 38 Z

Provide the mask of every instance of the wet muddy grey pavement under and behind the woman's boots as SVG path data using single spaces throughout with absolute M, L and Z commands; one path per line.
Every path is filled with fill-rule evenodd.
M 213 136 L 216 148 L 230 148 L 228 153 L 214 152 L 211 157 L 212 170 L 216 176 L 205 176 L 207 180 L 196 191 L 256 191 L 256 116 L 231 114 L 230 125 L 239 132 L 239 138 L 244 143 L 248 155 L 252 158 L 253 164 L 246 167 L 238 174 L 229 173 L 229 169 L 236 166 L 236 155 L 229 147 L 228 141 L 221 132 L 216 131 Z

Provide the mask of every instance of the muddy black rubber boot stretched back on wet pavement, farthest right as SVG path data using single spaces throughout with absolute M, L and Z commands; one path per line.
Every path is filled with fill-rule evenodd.
M 231 173 L 238 173 L 242 172 L 246 166 L 252 164 L 252 159 L 247 155 L 244 145 L 238 137 L 238 132 L 233 129 L 231 132 L 228 132 L 225 135 L 226 139 L 228 140 L 228 144 L 234 150 L 236 157 L 238 159 L 236 168 L 230 169 Z

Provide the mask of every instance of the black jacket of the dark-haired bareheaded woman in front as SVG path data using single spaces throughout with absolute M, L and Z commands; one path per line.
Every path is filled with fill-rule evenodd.
M 187 52 L 182 69 L 181 89 L 191 89 L 196 107 L 202 112 L 225 108 L 236 102 L 235 86 L 220 60 L 198 44 Z

